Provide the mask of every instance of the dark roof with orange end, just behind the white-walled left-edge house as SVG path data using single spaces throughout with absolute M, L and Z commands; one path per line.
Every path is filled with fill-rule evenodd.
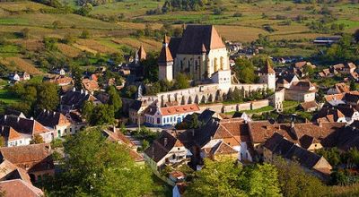
M 59 112 L 42 111 L 36 118 L 40 124 L 54 128 L 56 125 L 70 125 L 70 121 Z

